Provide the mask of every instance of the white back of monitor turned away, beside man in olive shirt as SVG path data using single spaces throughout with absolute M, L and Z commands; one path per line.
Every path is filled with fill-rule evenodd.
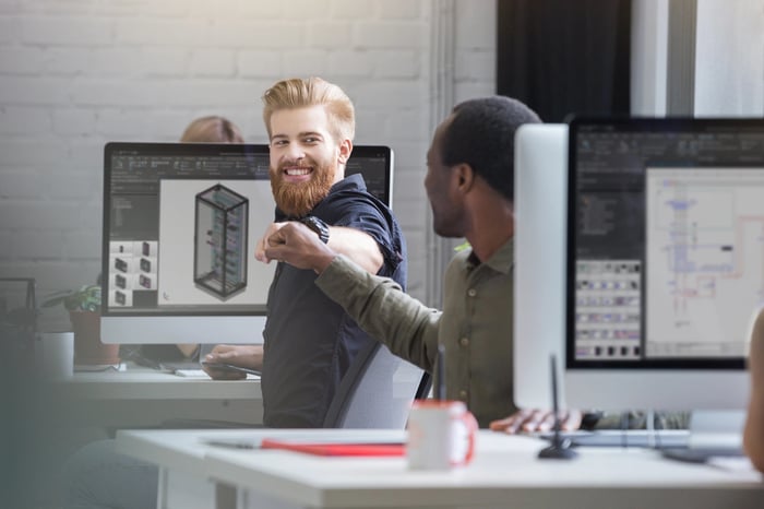
M 568 126 L 521 126 L 514 159 L 514 399 L 524 409 L 551 407 L 549 358 L 558 371 L 564 358 Z

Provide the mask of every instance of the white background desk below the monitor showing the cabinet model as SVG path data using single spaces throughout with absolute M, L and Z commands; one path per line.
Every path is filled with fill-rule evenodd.
M 187 378 L 129 366 L 126 371 L 75 372 L 51 383 L 72 427 L 156 427 L 170 418 L 262 423 L 260 380 Z

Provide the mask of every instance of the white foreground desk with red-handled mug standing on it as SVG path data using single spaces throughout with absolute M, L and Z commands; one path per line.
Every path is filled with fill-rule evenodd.
M 599 448 L 581 448 L 574 461 L 538 460 L 542 442 L 491 431 L 480 431 L 469 466 L 445 473 L 410 472 L 403 458 L 321 458 L 202 440 L 265 434 L 135 430 L 120 431 L 117 443 L 160 466 L 163 509 L 745 509 L 764 501 L 762 476 L 747 460 L 697 465 L 664 460 L 653 450 Z

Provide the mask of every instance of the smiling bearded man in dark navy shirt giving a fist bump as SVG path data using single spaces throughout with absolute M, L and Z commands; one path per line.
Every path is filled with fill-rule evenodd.
M 371 274 L 405 287 L 406 245 L 390 209 L 367 192 L 360 175 L 345 177 L 355 110 L 337 85 L 318 78 L 279 81 L 262 97 L 271 147 L 275 223 L 291 221 Z M 270 262 L 261 240 L 255 257 Z M 315 286 L 317 274 L 278 262 L 268 292 L 263 346 L 217 345 L 210 363 L 262 369 L 263 424 L 321 427 L 356 354 L 373 342 Z M 205 368 L 213 378 L 236 378 Z

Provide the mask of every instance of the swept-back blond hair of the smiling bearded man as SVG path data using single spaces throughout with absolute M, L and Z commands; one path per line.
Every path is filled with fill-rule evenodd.
M 280 109 L 324 106 L 330 131 L 335 141 L 353 140 L 356 135 L 356 113 L 353 102 L 337 85 L 321 78 L 282 80 L 263 94 L 263 121 L 271 132 L 271 116 Z

